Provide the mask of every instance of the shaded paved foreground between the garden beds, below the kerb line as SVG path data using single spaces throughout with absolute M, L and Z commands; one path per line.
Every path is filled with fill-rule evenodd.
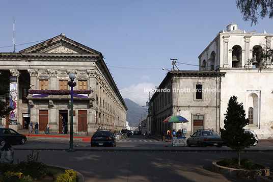
M 36 153 L 37 151 L 35 151 Z M 15 161 L 31 151 L 16 150 Z M 242 153 L 273 169 L 273 153 Z M 83 174 L 85 181 L 256 181 L 223 176 L 211 169 L 212 161 L 236 153 L 39 151 L 39 161 L 65 166 Z

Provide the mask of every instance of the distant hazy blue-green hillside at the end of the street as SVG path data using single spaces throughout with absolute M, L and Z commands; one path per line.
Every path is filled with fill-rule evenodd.
M 133 102 L 128 98 L 124 98 L 124 102 L 128 108 L 126 120 L 129 122 L 129 126 L 138 126 L 141 119 L 144 120 L 147 115 L 147 108 L 143 108 L 138 103 Z

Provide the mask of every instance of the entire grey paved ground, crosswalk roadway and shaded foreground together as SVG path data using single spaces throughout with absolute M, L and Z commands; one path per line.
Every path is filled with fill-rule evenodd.
M 78 146 L 75 146 L 78 144 Z M 14 144 L 15 161 L 26 160 L 35 149 L 39 159 L 47 165 L 72 168 L 83 174 L 85 181 L 256 181 L 243 180 L 212 171 L 212 161 L 223 157 L 237 157 L 230 148 L 169 147 L 143 136 L 130 136 L 117 142 L 117 147 L 91 147 L 90 142 L 74 141 L 76 152 L 69 153 L 69 141 L 28 140 Z M 273 169 L 273 142 L 259 142 L 241 153 Z M 247 152 L 247 153 L 246 153 Z M 272 170 L 271 170 L 272 171 Z

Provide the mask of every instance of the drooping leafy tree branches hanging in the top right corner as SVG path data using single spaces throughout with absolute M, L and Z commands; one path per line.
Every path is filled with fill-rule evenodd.
M 251 26 L 258 23 L 259 17 L 273 18 L 273 0 L 236 0 L 236 5 L 241 10 L 242 19 L 251 21 Z

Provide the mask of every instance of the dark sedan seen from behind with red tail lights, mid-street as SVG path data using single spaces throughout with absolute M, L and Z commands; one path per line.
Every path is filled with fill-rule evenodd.
M 91 147 L 93 146 L 111 146 L 115 147 L 116 137 L 111 131 L 97 131 L 91 138 Z

